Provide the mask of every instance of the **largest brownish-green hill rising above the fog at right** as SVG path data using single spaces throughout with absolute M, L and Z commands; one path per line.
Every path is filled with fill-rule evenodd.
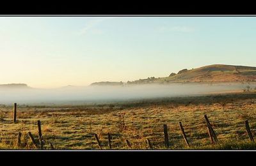
M 256 67 L 212 64 L 195 69 L 183 69 L 169 77 L 148 77 L 129 81 L 127 84 L 172 83 L 172 82 L 255 82 Z

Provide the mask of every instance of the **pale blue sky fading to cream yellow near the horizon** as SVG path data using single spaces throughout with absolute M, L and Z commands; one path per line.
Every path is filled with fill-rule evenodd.
M 256 66 L 256 17 L 0 17 L 0 84 L 88 86 Z

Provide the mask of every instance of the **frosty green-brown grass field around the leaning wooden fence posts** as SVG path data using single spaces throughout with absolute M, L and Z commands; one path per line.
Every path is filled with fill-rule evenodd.
M 148 149 L 146 139 L 153 149 L 164 147 L 163 124 L 168 126 L 168 149 L 256 149 L 250 142 L 244 126 L 248 119 L 252 135 L 256 135 L 256 93 L 211 94 L 184 98 L 162 98 L 119 102 L 100 105 L 19 105 L 17 122 L 12 122 L 11 105 L 0 106 L 0 149 L 35 149 L 28 137 L 31 132 L 38 141 L 37 121 L 42 123 L 45 149 L 102 149 L 108 147 L 108 132 L 112 149 Z M 212 145 L 204 120 L 207 114 L 218 137 Z M 181 135 L 182 122 L 188 142 Z M 22 132 L 20 147 L 17 135 Z M 255 137 L 256 138 L 256 137 Z

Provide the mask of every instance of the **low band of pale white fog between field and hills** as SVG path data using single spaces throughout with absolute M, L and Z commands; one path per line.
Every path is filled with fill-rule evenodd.
M 225 84 L 168 84 L 168 85 L 138 85 L 138 86 L 87 86 L 62 87 L 58 89 L 12 89 L 0 88 L 0 104 L 31 103 L 63 103 L 63 102 L 102 102 L 124 101 L 147 98 L 193 96 L 221 91 L 237 91 L 254 89 L 256 83 L 225 83 Z

